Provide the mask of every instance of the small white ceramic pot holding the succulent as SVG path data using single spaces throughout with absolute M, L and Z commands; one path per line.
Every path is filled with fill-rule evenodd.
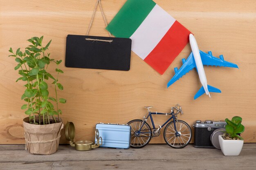
M 219 135 L 220 148 L 225 156 L 238 156 L 243 148 L 243 140 L 225 140 Z

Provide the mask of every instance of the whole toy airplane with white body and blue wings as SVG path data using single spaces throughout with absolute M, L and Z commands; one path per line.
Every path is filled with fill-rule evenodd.
M 209 97 L 211 97 L 209 92 L 221 93 L 221 91 L 218 88 L 209 86 L 207 84 L 207 79 L 204 73 L 203 65 L 234 67 L 234 68 L 238 68 L 238 66 L 234 63 L 225 61 L 223 58 L 223 55 L 220 55 L 220 58 L 217 58 L 212 55 L 211 51 L 209 51 L 208 54 L 204 53 L 203 51 L 200 51 L 198 49 L 198 45 L 196 43 L 195 37 L 192 34 L 189 35 L 189 41 L 190 41 L 192 52 L 190 53 L 187 60 L 185 60 L 184 58 L 182 59 L 183 65 L 179 70 L 177 67 L 174 68 L 175 75 L 168 82 L 167 88 L 171 86 L 174 82 L 176 82 L 178 79 L 180 79 L 183 75 L 191 71 L 193 68 L 196 68 L 196 70 L 198 71 L 198 75 L 199 75 L 199 79 L 202 84 L 202 87 L 195 94 L 194 99 L 197 99 L 204 93 L 206 93 L 206 95 L 209 95 Z

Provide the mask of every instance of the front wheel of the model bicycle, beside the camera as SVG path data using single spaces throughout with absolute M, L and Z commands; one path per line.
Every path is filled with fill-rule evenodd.
M 173 148 L 184 148 L 192 139 L 192 130 L 185 121 L 175 121 L 177 133 L 174 128 L 174 122 L 171 121 L 164 128 L 164 141 Z

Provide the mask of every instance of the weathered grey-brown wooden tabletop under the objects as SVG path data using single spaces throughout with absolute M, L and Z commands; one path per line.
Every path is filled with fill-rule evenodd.
M 192 144 L 174 149 L 167 144 L 149 144 L 140 149 L 97 148 L 76 151 L 60 145 L 53 155 L 31 155 L 24 145 L 0 145 L 1 170 L 255 170 L 256 144 L 244 144 L 238 157 L 225 157 L 221 150 L 194 148 Z M 107 155 L 107 156 L 106 156 Z M 238 166 L 240 165 L 240 166 Z

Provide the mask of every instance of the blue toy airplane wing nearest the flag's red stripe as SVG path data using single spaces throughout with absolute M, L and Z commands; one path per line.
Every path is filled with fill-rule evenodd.
M 186 73 L 189 73 L 193 68 L 195 68 L 195 60 L 193 57 L 193 53 L 191 52 L 187 60 L 182 59 L 183 65 L 178 70 L 177 67 L 174 68 L 175 75 L 173 78 L 168 82 L 167 88 L 171 86 L 174 82 L 176 82 L 178 79 L 180 79 L 183 75 Z

